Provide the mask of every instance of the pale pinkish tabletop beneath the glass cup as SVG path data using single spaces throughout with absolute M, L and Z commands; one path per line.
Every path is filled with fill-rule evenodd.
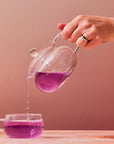
M 40 138 L 8 138 L 0 130 L 0 144 L 114 144 L 114 131 L 45 130 Z

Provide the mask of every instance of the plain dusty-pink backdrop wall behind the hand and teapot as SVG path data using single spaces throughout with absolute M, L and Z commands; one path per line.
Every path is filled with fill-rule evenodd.
M 28 50 L 79 14 L 114 17 L 114 0 L 0 0 L 0 117 L 26 112 Z M 75 71 L 53 94 L 29 83 L 30 112 L 43 114 L 45 129 L 114 129 L 114 42 L 81 48 Z

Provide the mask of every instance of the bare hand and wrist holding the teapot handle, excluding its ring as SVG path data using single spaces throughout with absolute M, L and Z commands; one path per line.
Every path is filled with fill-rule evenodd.
M 114 41 L 114 18 L 79 15 L 69 23 L 59 23 L 62 37 L 79 47 L 91 49 L 107 41 Z M 89 42 L 83 39 L 85 36 Z

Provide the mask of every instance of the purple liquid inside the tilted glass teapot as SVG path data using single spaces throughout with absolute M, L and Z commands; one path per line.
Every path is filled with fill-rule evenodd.
M 36 86 L 47 93 L 51 93 L 60 88 L 70 73 L 44 73 L 38 72 L 35 77 Z

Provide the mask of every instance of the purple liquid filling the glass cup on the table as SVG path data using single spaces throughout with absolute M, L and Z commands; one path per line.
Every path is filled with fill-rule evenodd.
M 43 121 L 5 121 L 5 133 L 11 138 L 39 137 L 44 129 Z

